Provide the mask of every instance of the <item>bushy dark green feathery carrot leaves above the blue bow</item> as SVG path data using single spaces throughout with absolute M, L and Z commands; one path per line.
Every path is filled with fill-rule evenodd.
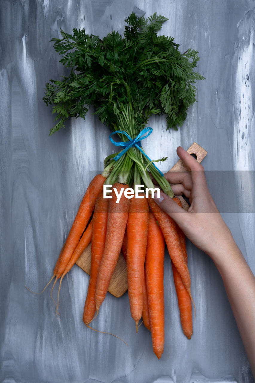
M 70 69 L 62 80 L 46 84 L 46 105 L 53 105 L 56 125 L 50 135 L 70 117 L 85 118 L 90 105 L 100 121 L 119 129 L 119 116 L 129 110 L 136 135 L 151 115 L 165 114 L 167 129 L 177 129 L 196 101 L 195 83 L 204 77 L 194 71 L 198 52 L 181 54 L 172 37 L 157 32 L 168 19 L 154 13 L 149 18 L 134 12 L 125 22 L 124 36 L 112 31 L 103 39 L 73 29 L 61 29 L 62 39 L 52 39 L 60 62 Z M 122 127 L 123 128 L 123 127 Z

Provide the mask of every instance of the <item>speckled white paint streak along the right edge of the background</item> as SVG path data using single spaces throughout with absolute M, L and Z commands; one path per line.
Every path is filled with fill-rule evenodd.
M 242 233 L 243 254 L 254 272 L 254 238 L 250 232 L 254 232 L 254 179 L 252 170 L 255 170 L 254 162 L 254 123 L 253 123 L 253 83 L 254 83 L 254 15 L 247 12 L 238 24 L 239 44 L 235 47 L 235 61 L 238 60 L 235 95 L 234 95 L 234 134 L 233 134 L 233 165 L 234 170 L 246 170 L 237 173 L 236 192 L 239 195 L 240 211 L 238 214 L 240 232 Z M 253 214 L 247 214 L 253 213 Z M 245 214 L 246 213 L 246 214 Z

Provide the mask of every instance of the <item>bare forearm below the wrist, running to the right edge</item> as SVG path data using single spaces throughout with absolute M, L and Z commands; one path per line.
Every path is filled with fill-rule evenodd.
M 232 236 L 209 255 L 221 274 L 255 376 L 255 277 Z

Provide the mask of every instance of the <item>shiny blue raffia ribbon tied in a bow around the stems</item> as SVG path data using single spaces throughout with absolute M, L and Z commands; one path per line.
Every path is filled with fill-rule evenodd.
M 152 128 L 144 128 L 137 136 L 136 138 L 134 138 L 132 140 L 132 138 L 129 136 L 129 134 L 127 134 L 126 132 L 123 132 L 121 130 L 116 130 L 115 132 L 111 133 L 110 136 L 109 136 L 109 139 L 110 141 L 116 145 L 116 146 L 123 146 L 124 149 L 119 153 L 117 154 L 115 157 L 114 157 L 114 160 L 115 161 L 118 161 L 118 159 L 124 154 L 126 153 L 126 151 L 128 151 L 128 149 L 130 149 L 131 147 L 137 147 L 137 149 L 139 149 L 140 152 L 142 152 L 143 155 L 145 155 L 145 157 L 151 162 L 151 159 L 147 156 L 147 154 L 142 150 L 141 148 L 141 145 L 142 145 L 142 140 L 144 140 L 145 138 L 147 138 L 150 134 L 152 134 Z M 115 133 L 121 133 L 121 134 L 124 134 L 124 136 L 126 136 L 129 141 L 121 141 L 121 142 L 116 142 L 114 141 L 111 136 Z M 146 135 L 145 135 L 146 134 Z M 160 173 L 160 175 L 162 177 L 164 177 L 163 173 L 160 172 L 160 170 L 157 168 L 157 166 L 152 162 L 152 164 L 155 166 L 155 168 L 157 169 L 157 171 Z

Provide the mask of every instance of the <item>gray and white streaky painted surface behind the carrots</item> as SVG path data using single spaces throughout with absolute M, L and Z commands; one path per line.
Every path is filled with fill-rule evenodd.
M 141 326 L 136 334 L 127 294 L 107 296 L 94 327 L 113 332 L 129 347 L 85 328 L 88 276 L 76 265 L 62 283 L 60 318 L 50 288 L 33 295 L 24 285 L 41 291 L 51 278 L 92 171 L 100 171 L 113 151 L 108 129 L 91 113 L 48 137 L 53 118 L 42 101 L 44 86 L 63 74 L 49 40 L 59 36 L 60 27 L 69 32 L 86 27 L 100 36 L 123 32 L 132 10 L 167 16 L 162 33 L 174 36 L 183 52 L 197 49 L 198 69 L 206 77 L 183 127 L 168 133 L 164 117 L 151 119 L 153 138 L 144 148 L 152 158 L 168 155 L 162 170 L 176 162 L 179 145 L 196 141 L 208 151 L 203 165 L 212 195 L 255 272 L 254 1 L 2 0 L 0 7 L 0 381 L 189 383 L 199 376 L 210 381 L 225 376 L 225 381 L 253 382 L 221 277 L 190 242 L 194 334 L 187 340 L 181 332 L 166 255 L 160 361 L 149 332 Z M 221 176 L 227 170 L 240 171 L 227 173 L 233 186 L 229 198 L 229 177 Z M 222 199 L 235 203 L 222 205 Z

